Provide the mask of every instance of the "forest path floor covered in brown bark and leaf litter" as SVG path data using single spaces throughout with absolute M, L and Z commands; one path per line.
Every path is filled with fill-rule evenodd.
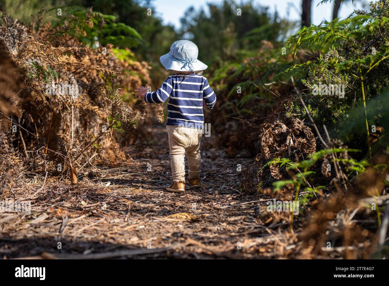
M 286 221 L 261 221 L 269 199 L 241 192 L 237 165 L 251 159 L 230 159 L 203 135 L 202 185 L 169 193 L 166 129 L 147 133 L 152 141 L 139 158 L 129 156 L 122 167 L 91 166 L 89 179 L 78 184 L 47 179 L 31 199 L 31 214 L 0 213 L 1 257 L 281 258 L 300 249 Z M 42 179 L 28 184 L 38 189 Z M 14 188 L 11 197 L 34 192 Z

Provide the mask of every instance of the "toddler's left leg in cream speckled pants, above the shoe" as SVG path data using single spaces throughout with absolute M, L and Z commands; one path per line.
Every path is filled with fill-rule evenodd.
M 166 126 L 170 146 L 170 165 L 172 167 L 173 181 L 185 181 L 185 147 L 178 126 Z

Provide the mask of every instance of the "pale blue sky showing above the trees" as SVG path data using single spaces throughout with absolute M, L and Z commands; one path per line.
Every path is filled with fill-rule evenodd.
M 321 4 L 318 7 L 316 6 L 320 0 L 312 1 L 312 23 L 318 25 L 323 19 L 331 20 L 333 1 L 334 0 L 332 0 L 331 3 Z M 180 18 L 184 15 L 187 8 L 190 6 L 194 6 L 196 9 L 206 7 L 208 2 L 219 3 L 221 0 L 154 0 L 152 4 L 156 8 L 155 12 L 163 19 L 164 24 L 171 23 L 175 26 L 175 28 L 179 28 Z M 237 2 L 239 3 L 240 0 Z M 290 20 L 300 19 L 299 13 L 301 11 L 301 0 L 254 0 L 253 2 L 262 6 L 268 6 L 270 12 L 274 12 L 276 7 L 281 18 L 287 18 Z M 354 3 L 350 0 L 344 2 L 340 6 L 338 14 L 339 18 L 346 18 L 353 9 L 362 9 L 363 4 L 367 7 L 366 4 L 368 4 L 368 2 L 370 2 L 370 0 L 354 0 Z M 288 5 L 288 3 L 293 5 Z M 287 14 L 288 10 L 289 15 Z

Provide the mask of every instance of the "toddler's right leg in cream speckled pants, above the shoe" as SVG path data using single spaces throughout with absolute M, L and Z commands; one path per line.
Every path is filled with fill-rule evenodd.
M 200 141 L 202 137 L 201 129 L 191 129 L 191 142 L 190 146 L 186 148 L 186 154 L 188 156 L 189 165 L 189 179 L 197 179 L 200 176 Z

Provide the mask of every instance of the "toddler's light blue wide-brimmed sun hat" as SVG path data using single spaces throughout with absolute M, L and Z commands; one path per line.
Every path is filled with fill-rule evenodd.
M 179 40 L 172 44 L 170 52 L 159 58 L 166 70 L 196 71 L 208 66 L 197 59 L 198 47 L 188 40 Z

